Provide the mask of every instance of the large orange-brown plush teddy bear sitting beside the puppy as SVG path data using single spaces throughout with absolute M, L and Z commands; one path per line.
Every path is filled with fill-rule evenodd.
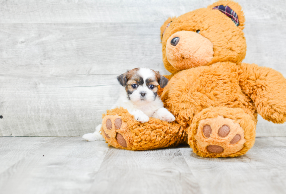
M 257 114 L 284 123 L 286 79 L 271 68 L 242 62 L 244 22 L 234 1 L 167 19 L 161 40 L 171 75 L 160 95 L 176 119 L 139 123 L 122 107 L 107 110 L 101 127 L 107 143 L 128 150 L 187 143 L 201 157 L 237 157 L 254 145 Z

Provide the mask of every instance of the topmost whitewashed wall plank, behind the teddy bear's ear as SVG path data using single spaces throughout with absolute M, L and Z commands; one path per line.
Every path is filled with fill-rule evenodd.
M 0 23 L 164 22 L 216 2 L 216 0 L 15 0 L 0 1 Z M 245 16 L 256 21 L 283 21 L 286 2 L 237 0 Z M 250 20 L 248 19 L 248 20 Z

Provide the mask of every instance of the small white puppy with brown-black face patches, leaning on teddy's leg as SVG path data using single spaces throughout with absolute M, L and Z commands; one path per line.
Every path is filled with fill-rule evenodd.
M 134 115 L 134 118 L 145 123 L 149 117 L 163 121 L 175 121 L 175 117 L 163 106 L 163 102 L 157 94 L 158 86 L 165 87 L 168 79 L 159 72 L 144 67 L 128 70 L 117 77 L 123 86 L 121 94 L 112 107 L 123 107 Z M 83 135 L 87 141 L 104 140 L 100 134 L 101 124 L 95 128 L 94 133 Z

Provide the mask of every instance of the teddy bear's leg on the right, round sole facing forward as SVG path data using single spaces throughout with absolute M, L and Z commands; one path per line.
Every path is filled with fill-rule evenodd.
M 255 141 L 256 121 L 241 108 L 210 107 L 193 118 L 188 143 L 201 157 L 236 157 Z

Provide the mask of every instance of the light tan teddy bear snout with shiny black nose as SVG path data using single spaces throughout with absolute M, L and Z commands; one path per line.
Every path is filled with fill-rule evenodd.
M 168 38 L 166 56 L 177 70 L 206 65 L 214 56 L 213 44 L 196 32 L 182 30 Z

